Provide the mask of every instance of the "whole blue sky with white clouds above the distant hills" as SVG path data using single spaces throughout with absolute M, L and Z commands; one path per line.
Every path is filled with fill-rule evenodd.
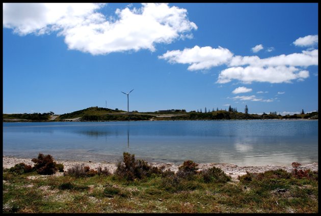
M 3 113 L 318 110 L 316 3 L 3 5 Z

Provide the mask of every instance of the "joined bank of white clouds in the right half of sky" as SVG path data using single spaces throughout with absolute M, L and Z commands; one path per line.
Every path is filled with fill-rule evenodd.
M 243 83 L 252 81 L 282 83 L 292 80 L 303 81 L 309 77 L 309 71 L 298 67 L 317 66 L 318 49 L 261 59 L 258 56 L 234 56 L 228 49 L 220 46 L 217 49 L 195 46 L 182 51 L 167 51 L 158 58 L 173 64 L 189 64 L 190 71 L 207 70 L 224 64 L 230 67 L 220 72 L 217 83 L 227 83 L 232 79 Z

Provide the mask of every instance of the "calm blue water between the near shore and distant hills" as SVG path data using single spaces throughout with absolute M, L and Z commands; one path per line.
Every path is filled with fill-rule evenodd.
M 3 155 L 239 166 L 318 162 L 317 120 L 4 122 Z

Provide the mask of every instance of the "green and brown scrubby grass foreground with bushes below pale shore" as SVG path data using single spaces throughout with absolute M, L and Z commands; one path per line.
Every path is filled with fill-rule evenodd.
M 61 176 L 6 169 L 3 180 L 3 212 L 318 212 L 318 173 L 296 168 L 233 181 L 219 168 L 198 171 L 192 161 L 177 173 L 150 169 L 124 152 L 114 174 L 86 167 Z

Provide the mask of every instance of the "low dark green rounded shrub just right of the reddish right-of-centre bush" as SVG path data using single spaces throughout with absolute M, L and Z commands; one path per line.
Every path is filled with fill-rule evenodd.
M 229 175 L 226 175 L 225 172 L 217 167 L 212 167 L 209 169 L 204 169 L 200 172 L 203 177 L 204 182 L 216 182 L 216 183 L 226 183 L 231 180 Z

